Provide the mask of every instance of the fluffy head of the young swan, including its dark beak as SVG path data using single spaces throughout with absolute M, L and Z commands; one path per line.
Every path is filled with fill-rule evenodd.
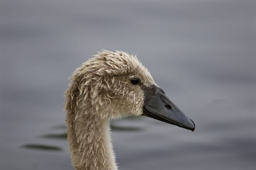
M 134 55 L 103 50 L 77 68 L 67 89 L 65 109 L 75 119 L 148 116 L 194 130 L 195 123 L 170 101 Z

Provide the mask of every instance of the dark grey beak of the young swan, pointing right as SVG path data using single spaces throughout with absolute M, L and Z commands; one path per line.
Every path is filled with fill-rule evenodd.
M 153 92 L 145 95 L 142 116 L 158 119 L 191 131 L 195 130 L 195 123 L 187 117 L 178 107 L 165 95 L 164 91 L 153 85 Z

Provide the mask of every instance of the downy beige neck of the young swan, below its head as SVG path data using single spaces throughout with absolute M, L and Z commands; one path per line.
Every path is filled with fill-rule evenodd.
M 84 115 L 67 124 L 71 158 L 76 170 L 117 170 L 108 120 Z

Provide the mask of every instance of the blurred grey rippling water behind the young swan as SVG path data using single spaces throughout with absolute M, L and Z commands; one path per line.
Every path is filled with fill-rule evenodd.
M 255 170 L 255 0 L 1 0 L 1 170 L 73 170 L 63 92 L 101 48 L 137 54 L 196 123 L 112 122 L 120 170 Z

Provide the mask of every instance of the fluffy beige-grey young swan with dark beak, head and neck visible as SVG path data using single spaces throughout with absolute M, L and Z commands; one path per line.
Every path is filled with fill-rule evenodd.
M 148 116 L 194 130 L 136 56 L 101 51 L 72 74 L 65 92 L 71 159 L 76 170 L 117 170 L 109 121 Z

